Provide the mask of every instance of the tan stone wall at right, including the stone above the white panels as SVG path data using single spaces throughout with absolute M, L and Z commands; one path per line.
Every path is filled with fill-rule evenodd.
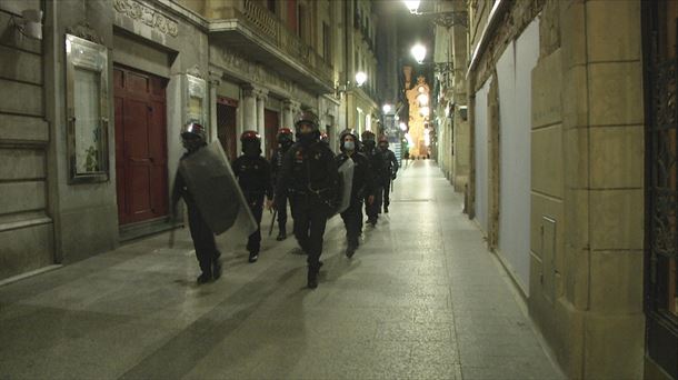
M 491 78 L 506 47 L 539 17 L 539 61 L 531 74 L 530 314 L 568 377 L 639 379 L 645 349 L 640 1 L 507 4 L 475 58 L 468 86 L 475 93 Z M 472 46 L 483 17 L 475 21 Z

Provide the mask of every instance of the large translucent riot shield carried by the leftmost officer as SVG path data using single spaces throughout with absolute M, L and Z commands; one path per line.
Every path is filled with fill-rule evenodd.
M 179 172 L 216 234 L 233 226 L 246 234 L 257 230 L 255 217 L 218 141 L 179 161 Z

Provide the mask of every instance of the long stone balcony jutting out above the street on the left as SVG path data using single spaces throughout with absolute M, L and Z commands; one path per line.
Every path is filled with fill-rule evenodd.
M 210 22 L 210 42 L 223 43 L 317 93 L 333 91 L 332 67 L 290 31 L 273 13 L 252 0 L 220 8 Z

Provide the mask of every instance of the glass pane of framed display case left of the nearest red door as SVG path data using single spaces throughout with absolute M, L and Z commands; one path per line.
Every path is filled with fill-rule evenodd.
M 100 82 L 99 72 L 74 69 L 74 153 L 78 173 L 101 171 Z

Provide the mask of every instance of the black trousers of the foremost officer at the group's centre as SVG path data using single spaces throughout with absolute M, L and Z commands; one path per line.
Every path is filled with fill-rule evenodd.
M 310 270 L 320 268 L 322 254 L 322 237 L 327 224 L 326 207 L 312 197 L 296 194 L 290 198 L 292 218 L 295 218 L 295 238 L 301 249 L 308 254 Z

